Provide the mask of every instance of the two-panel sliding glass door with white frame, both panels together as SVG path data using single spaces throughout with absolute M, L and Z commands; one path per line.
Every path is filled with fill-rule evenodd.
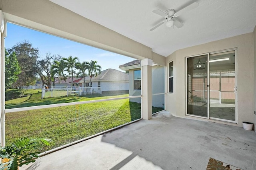
M 186 58 L 186 115 L 236 122 L 235 51 Z

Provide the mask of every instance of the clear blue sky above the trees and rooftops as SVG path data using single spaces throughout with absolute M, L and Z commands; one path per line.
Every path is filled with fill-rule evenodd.
M 7 49 L 12 48 L 18 42 L 23 42 L 24 40 L 32 43 L 34 48 L 39 49 L 40 58 L 44 58 L 46 53 L 51 53 L 52 55 L 58 54 L 62 57 L 69 57 L 71 55 L 72 57 L 78 57 L 80 62 L 97 61 L 102 66 L 102 70 L 108 68 L 120 70 L 118 68 L 119 65 L 135 60 L 130 57 L 8 23 L 5 47 Z

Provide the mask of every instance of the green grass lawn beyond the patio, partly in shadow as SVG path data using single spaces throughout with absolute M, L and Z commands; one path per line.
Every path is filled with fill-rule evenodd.
M 91 95 L 39 99 L 37 95 L 40 96 L 41 93 L 32 91 L 27 97 L 6 101 L 6 108 L 128 96 Z M 153 113 L 161 110 L 162 107 L 152 108 Z M 6 143 L 24 136 L 52 139 L 50 147 L 40 149 L 43 152 L 140 117 L 141 104 L 129 102 L 129 99 L 6 113 Z

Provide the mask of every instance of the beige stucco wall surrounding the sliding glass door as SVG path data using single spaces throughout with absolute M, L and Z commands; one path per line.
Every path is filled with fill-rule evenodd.
M 179 117 L 185 115 L 185 59 L 188 56 L 222 51 L 237 48 L 237 86 L 238 86 L 238 126 L 242 127 L 242 121 L 254 119 L 254 38 L 253 33 L 238 35 L 194 47 L 177 50 L 166 58 L 166 63 L 174 61 L 174 94 L 167 93 L 166 106 L 175 103 L 176 108 L 166 107 L 167 111 Z M 168 69 L 168 68 L 166 68 Z M 167 77 L 167 76 L 166 76 Z M 168 82 L 168 80 L 166 81 Z M 201 118 L 194 118 L 201 119 Z M 213 120 L 212 120 L 213 121 Z M 217 121 L 220 122 L 220 121 Z M 221 122 L 223 123 L 223 122 Z M 226 123 L 236 125 L 234 123 Z

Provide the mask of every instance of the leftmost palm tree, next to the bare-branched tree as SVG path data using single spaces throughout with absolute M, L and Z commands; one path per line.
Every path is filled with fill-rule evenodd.
M 64 71 L 66 71 L 66 63 L 64 60 L 60 60 L 60 61 L 54 61 L 54 64 L 52 65 L 52 75 L 56 75 L 59 78 L 63 79 L 66 82 L 66 75 L 64 74 Z M 66 82 L 66 86 L 67 86 L 67 82 Z

